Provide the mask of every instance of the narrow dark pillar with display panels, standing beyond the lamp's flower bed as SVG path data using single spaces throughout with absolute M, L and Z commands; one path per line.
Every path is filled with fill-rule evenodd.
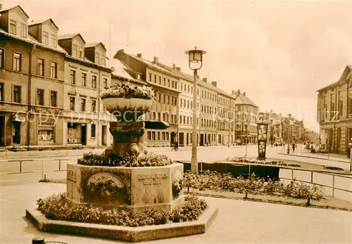
M 258 160 L 265 160 L 266 143 L 268 140 L 268 117 L 264 113 L 258 114 Z

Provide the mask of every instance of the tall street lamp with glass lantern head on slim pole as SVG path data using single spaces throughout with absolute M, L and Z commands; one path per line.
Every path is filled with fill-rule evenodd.
M 193 87 L 193 133 L 192 133 L 192 158 L 191 158 L 191 172 L 198 174 L 198 161 L 197 161 L 197 94 L 198 85 L 197 77 L 198 70 L 201 69 L 203 65 L 203 54 L 206 51 L 198 50 L 194 47 L 194 50 L 189 50 L 185 52 L 189 56 L 189 68 L 194 71 L 194 87 Z

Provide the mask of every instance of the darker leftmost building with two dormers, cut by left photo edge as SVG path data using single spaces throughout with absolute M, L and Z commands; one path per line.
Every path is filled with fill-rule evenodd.
M 58 27 L 0 9 L 0 146 L 62 145 L 63 63 Z

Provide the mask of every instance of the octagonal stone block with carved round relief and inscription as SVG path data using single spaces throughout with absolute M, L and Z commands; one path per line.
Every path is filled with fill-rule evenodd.
M 149 207 L 170 211 L 184 203 L 180 193 L 183 165 L 161 167 L 103 167 L 67 165 L 67 196 L 73 204 Z

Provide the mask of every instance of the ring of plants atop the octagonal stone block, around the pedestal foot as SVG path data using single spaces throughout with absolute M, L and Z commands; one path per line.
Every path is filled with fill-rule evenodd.
M 171 165 L 172 161 L 167 155 L 149 153 L 137 157 L 135 155 L 120 155 L 112 150 L 106 149 L 101 155 L 95 153 L 84 153 L 83 158 L 77 160 L 79 165 L 108 166 L 108 167 L 153 167 Z

